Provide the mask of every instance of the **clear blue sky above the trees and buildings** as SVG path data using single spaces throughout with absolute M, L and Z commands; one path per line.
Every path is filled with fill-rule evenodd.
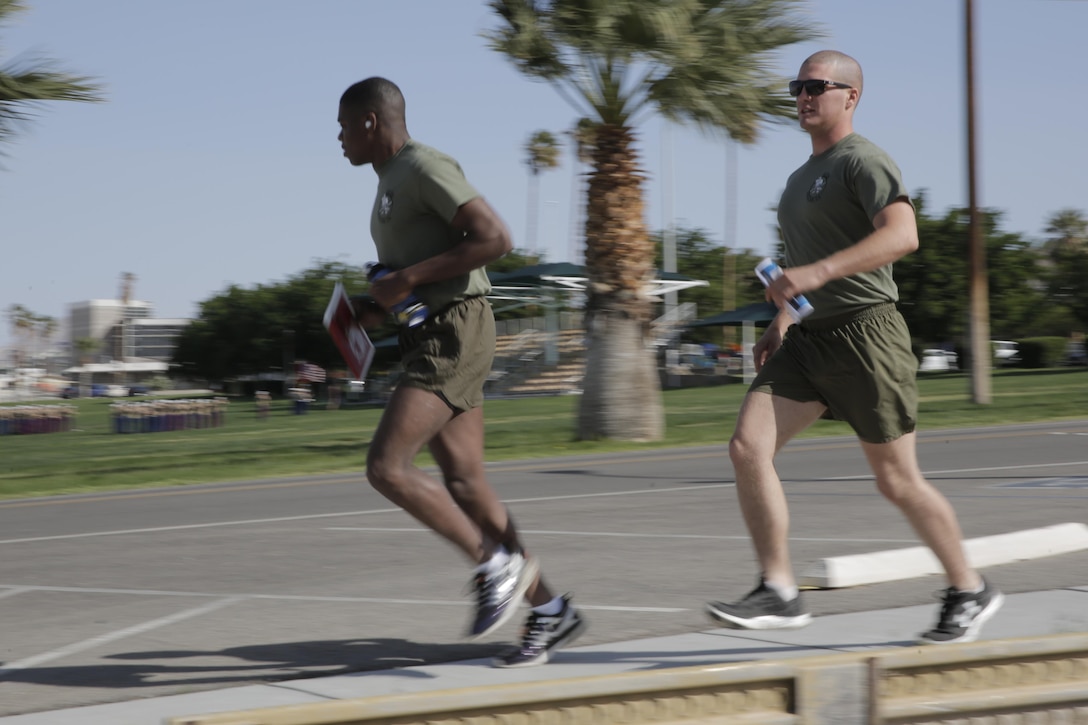
M 549 86 L 486 48 L 475 0 L 28 0 L 0 28 L 0 62 L 42 52 L 106 86 L 99 105 L 54 103 L 0 159 L 0 310 L 66 318 L 70 303 L 113 298 L 122 272 L 160 317 L 191 317 L 228 284 L 283 280 L 319 259 L 374 258 L 370 168 L 336 140 L 341 93 L 396 82 L 417 139 L 455 156 L 527 243 L 523 146 L 577 116 Z M 1088 207 L 1085 28 L 1088 2 L 976 0 L 979 200 L 1004 229 L 1041 238 L 1054 211 Z M 931 212 L 967 197 L 961 0 L 812 0 L 824 40 L 786 49 L 792 76 L 814 50 L 857 58 L 857 131 L 899 161 Z M 720 138 L 652 119 L 638 128 L 646 221 L 722 241 Z M 671 139 L 671 174 L 662 139 Z M 735 245 L 769 250 L 782 184 L 809 152 L 793 126 L 738 153 Z M 570 258 L 572 164 L 541 180 L 539 248 Z M 663 177 L 671 175 L 671 193 Z M 923 239 L 925 244 L 925 239 Z M 716 310 L 701 310 L 710 314 Z M 7 319 L 0 346 L 10 340 Z

